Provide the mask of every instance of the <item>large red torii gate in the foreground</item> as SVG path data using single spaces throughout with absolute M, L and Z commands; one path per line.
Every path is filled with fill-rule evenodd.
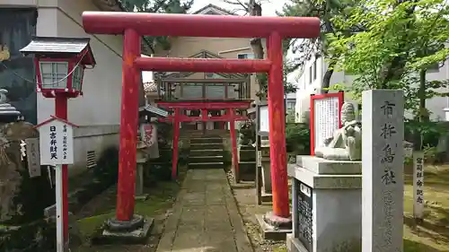
M 84 12 L 87 33 L 124 34 L 116 218 L 132 222 L 141 71 L 269 73 L 269 143 L 273 214 L 289 218 L 282 39 L 316 38 L 318 18 Z M 266 38 L 266 59 L 141 57 L 141 36 Z

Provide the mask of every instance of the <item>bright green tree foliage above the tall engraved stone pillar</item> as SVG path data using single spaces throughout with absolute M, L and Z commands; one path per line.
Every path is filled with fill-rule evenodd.
M 428 116 L 420 108 L 425 100 L 447 95 L 440 91 L 447 80 L 428 82 L 426 71 L 449 56 L 448 17 L 443 0 L 358 1 L 332 17 L 339 32 L 327 34 L 328 52 L 339 55 L 336 71 L 355 76 L 350 89 L 355 99 L 368 89 L 401 89 L 406 109 Z M 360 30 L 352 32 L 355 27 Z

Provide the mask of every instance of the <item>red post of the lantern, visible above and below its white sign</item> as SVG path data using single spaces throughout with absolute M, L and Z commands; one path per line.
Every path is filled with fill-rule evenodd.
M 57 93 L 55 97 L 56 117 L 67 120 L 67 100 L 65 93 Z M 67 165 L 62 166 L 62 227 L 64 242 L 68 242 L 68 169 Z

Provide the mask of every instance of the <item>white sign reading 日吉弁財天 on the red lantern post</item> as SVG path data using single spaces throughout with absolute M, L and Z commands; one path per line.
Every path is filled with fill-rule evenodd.
M 39 126 L 40 164 L 59 165 L 74 163 L 73 126 L 52 118 Z

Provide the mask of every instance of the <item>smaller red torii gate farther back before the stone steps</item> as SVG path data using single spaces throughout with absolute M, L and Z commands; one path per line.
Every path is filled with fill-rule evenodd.
M 248 117 L 235 115 L 234 109 L 249 109 L 251 100 L 176 100 L 176 101 L 156 101 L 157 105 L 166 109 L 174 109 L 174 115 L 160 118 L 159 121 L 171 122 L 173 125 L 173 158 L 172 158 L 172 178 L 178 175 L 178 142 L 180 139 L 180 123 L 182 122 L 229 122 L 231 143 L 233 146 L 233 170 L 235 176 L 239 174 L 239 161 L 237 160 L 237 138 L 235 136 L 235 121 L 244 121 Z M 180 109 L 199 109 L 200 117 L 188 117 L 180 114 Z M 207 109 L 225 109 L 225 116 L 208 117 Z

